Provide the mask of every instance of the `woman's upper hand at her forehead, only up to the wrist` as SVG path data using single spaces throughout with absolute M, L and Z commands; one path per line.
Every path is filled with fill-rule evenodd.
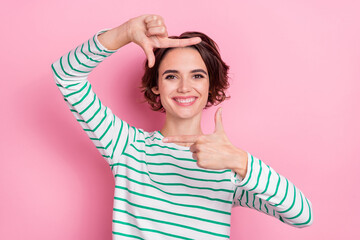
M 198 44 L 200 38 L 170 39 L 164 19 L 158 15 L 142 15 L 127 22 L 127 32 L 131 42 L 139 45 L 148 59 L 148 66 L 155 64 L 154 48 L 185 47 Z

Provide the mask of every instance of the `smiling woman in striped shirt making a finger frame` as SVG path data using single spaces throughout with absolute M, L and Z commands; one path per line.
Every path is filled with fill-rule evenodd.
M 214 133 L 203 134 L 202 110 L 226 98 L 228 67 L 206 35 L 180 38 L 168 38 L 160 16 L 143 15 L 97 33 L 52 65 L 70 110 L 114 174 L 113 239 L 229 239 L 237 205 L 295 227 L 311 225 L 310 201 L 229 141 L 221 109 Z M 93 68 L 130 42 L 147 56 L 143 91 L 152 108 L 166 114 L 161 131 L 130 127 L 87 81 Z

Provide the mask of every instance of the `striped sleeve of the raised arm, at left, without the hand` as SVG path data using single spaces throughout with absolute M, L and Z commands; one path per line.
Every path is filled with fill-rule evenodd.
M 62 56 L 51 67 L 70 111 L 106 161 L 113 164 L 136 129 L 104 106 L 88 82 L 90 72 L 115 52 L 108 51 L 98 41 L 97 36 L 102 32 Z

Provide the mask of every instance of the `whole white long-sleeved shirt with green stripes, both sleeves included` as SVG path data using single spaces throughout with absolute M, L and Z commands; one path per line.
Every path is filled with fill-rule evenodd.
M 53 63 L 52 70 L 70 111 L 114 175 L 113 239 L 229 239 L 234 206 L 295 227 L 312 223 L 304 194 L 250 153 L 244 179 L 230 169 L 203 169 L 188 147 L 163 143 L 159 131 L 144 131 L 115 116 L 87 80 L 115 52 L 100 44 L 99 33 Z

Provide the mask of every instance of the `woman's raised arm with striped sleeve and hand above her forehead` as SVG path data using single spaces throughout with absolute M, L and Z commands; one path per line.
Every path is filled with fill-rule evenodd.
M 88 75 L 105 58 L 130 42 L 144 49 L 152 66 L 154 47 L 186 46 L 199 40 L 179 42 L 168 39 L 160 16 L 143 15 L 109 31 L 99 32 L 51 66 L 70 111 L 109 164 L 117 161 L 136 129 L 130 128 L 101 103 L 88 82 Z

